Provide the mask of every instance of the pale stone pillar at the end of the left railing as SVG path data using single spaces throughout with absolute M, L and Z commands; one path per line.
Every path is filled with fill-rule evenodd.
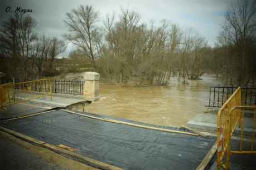
M 99 79 L 100 74 L 96 72 L 84 73 L 84 98 L 88 101 L 99 100 Z

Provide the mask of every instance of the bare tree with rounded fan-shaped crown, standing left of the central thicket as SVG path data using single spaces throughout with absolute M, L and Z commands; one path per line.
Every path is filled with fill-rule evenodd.
M 96 22 L 99 19 L 99 13 L 92 6 L 79 6 L 66 13 L 65 23 L 70 31 L 64 37 L 75 44 L 84 55 L 94 62 L 97 57 L 99 32 Z

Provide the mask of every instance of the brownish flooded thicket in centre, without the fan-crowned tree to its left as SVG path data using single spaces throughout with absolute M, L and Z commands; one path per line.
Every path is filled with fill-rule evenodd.
M 199 79 L 205 69 L 205 38 L 166 20 L 154 25 L 141 22 L 139 14 L 129 9 L 121 9 L 118 18 L 107 15 L 99 72 L 118 83 L 135 79 L 138 86 L 167 84 L 176 72 L 183 82 Z

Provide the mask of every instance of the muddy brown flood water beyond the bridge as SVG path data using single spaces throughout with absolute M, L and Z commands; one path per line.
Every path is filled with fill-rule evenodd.
M 204 113 L 209 86 L 218 83 L 213 77 L 203 76 L 189 84 L 172 77 L 168 86 L 100 84 L 100 101 L 89 104 L 84 111 L 162 126 L 186 126 L 196 114 Z

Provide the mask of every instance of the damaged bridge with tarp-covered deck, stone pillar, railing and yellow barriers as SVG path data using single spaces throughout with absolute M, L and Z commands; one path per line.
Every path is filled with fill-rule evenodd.
M 255 153 L 256 107 L 241 106 L 240 87 L 215 115 L 216 138 L 193 128 L 72 111 L 76 104 L 98 99 L 99 75 L 85 73 L 83 81 L 60 83 L 41 79 L 1 86 L 0 103 L 6 109 L 1 111 L 0 136 L 53 151 L 87 169 L 235 169 L 234 165 L 244 160 L 249 162 L 247 168 L 255 167 L 255 157 L 244 154 Z M 70 94 L 63 94 L 63 83 L 75 84 L 66 92 Z M 245 114 L 253 120 L 250 133 L 245 128 Z M 240 132 L 240 144 L 234 139 L 236 131 Z

